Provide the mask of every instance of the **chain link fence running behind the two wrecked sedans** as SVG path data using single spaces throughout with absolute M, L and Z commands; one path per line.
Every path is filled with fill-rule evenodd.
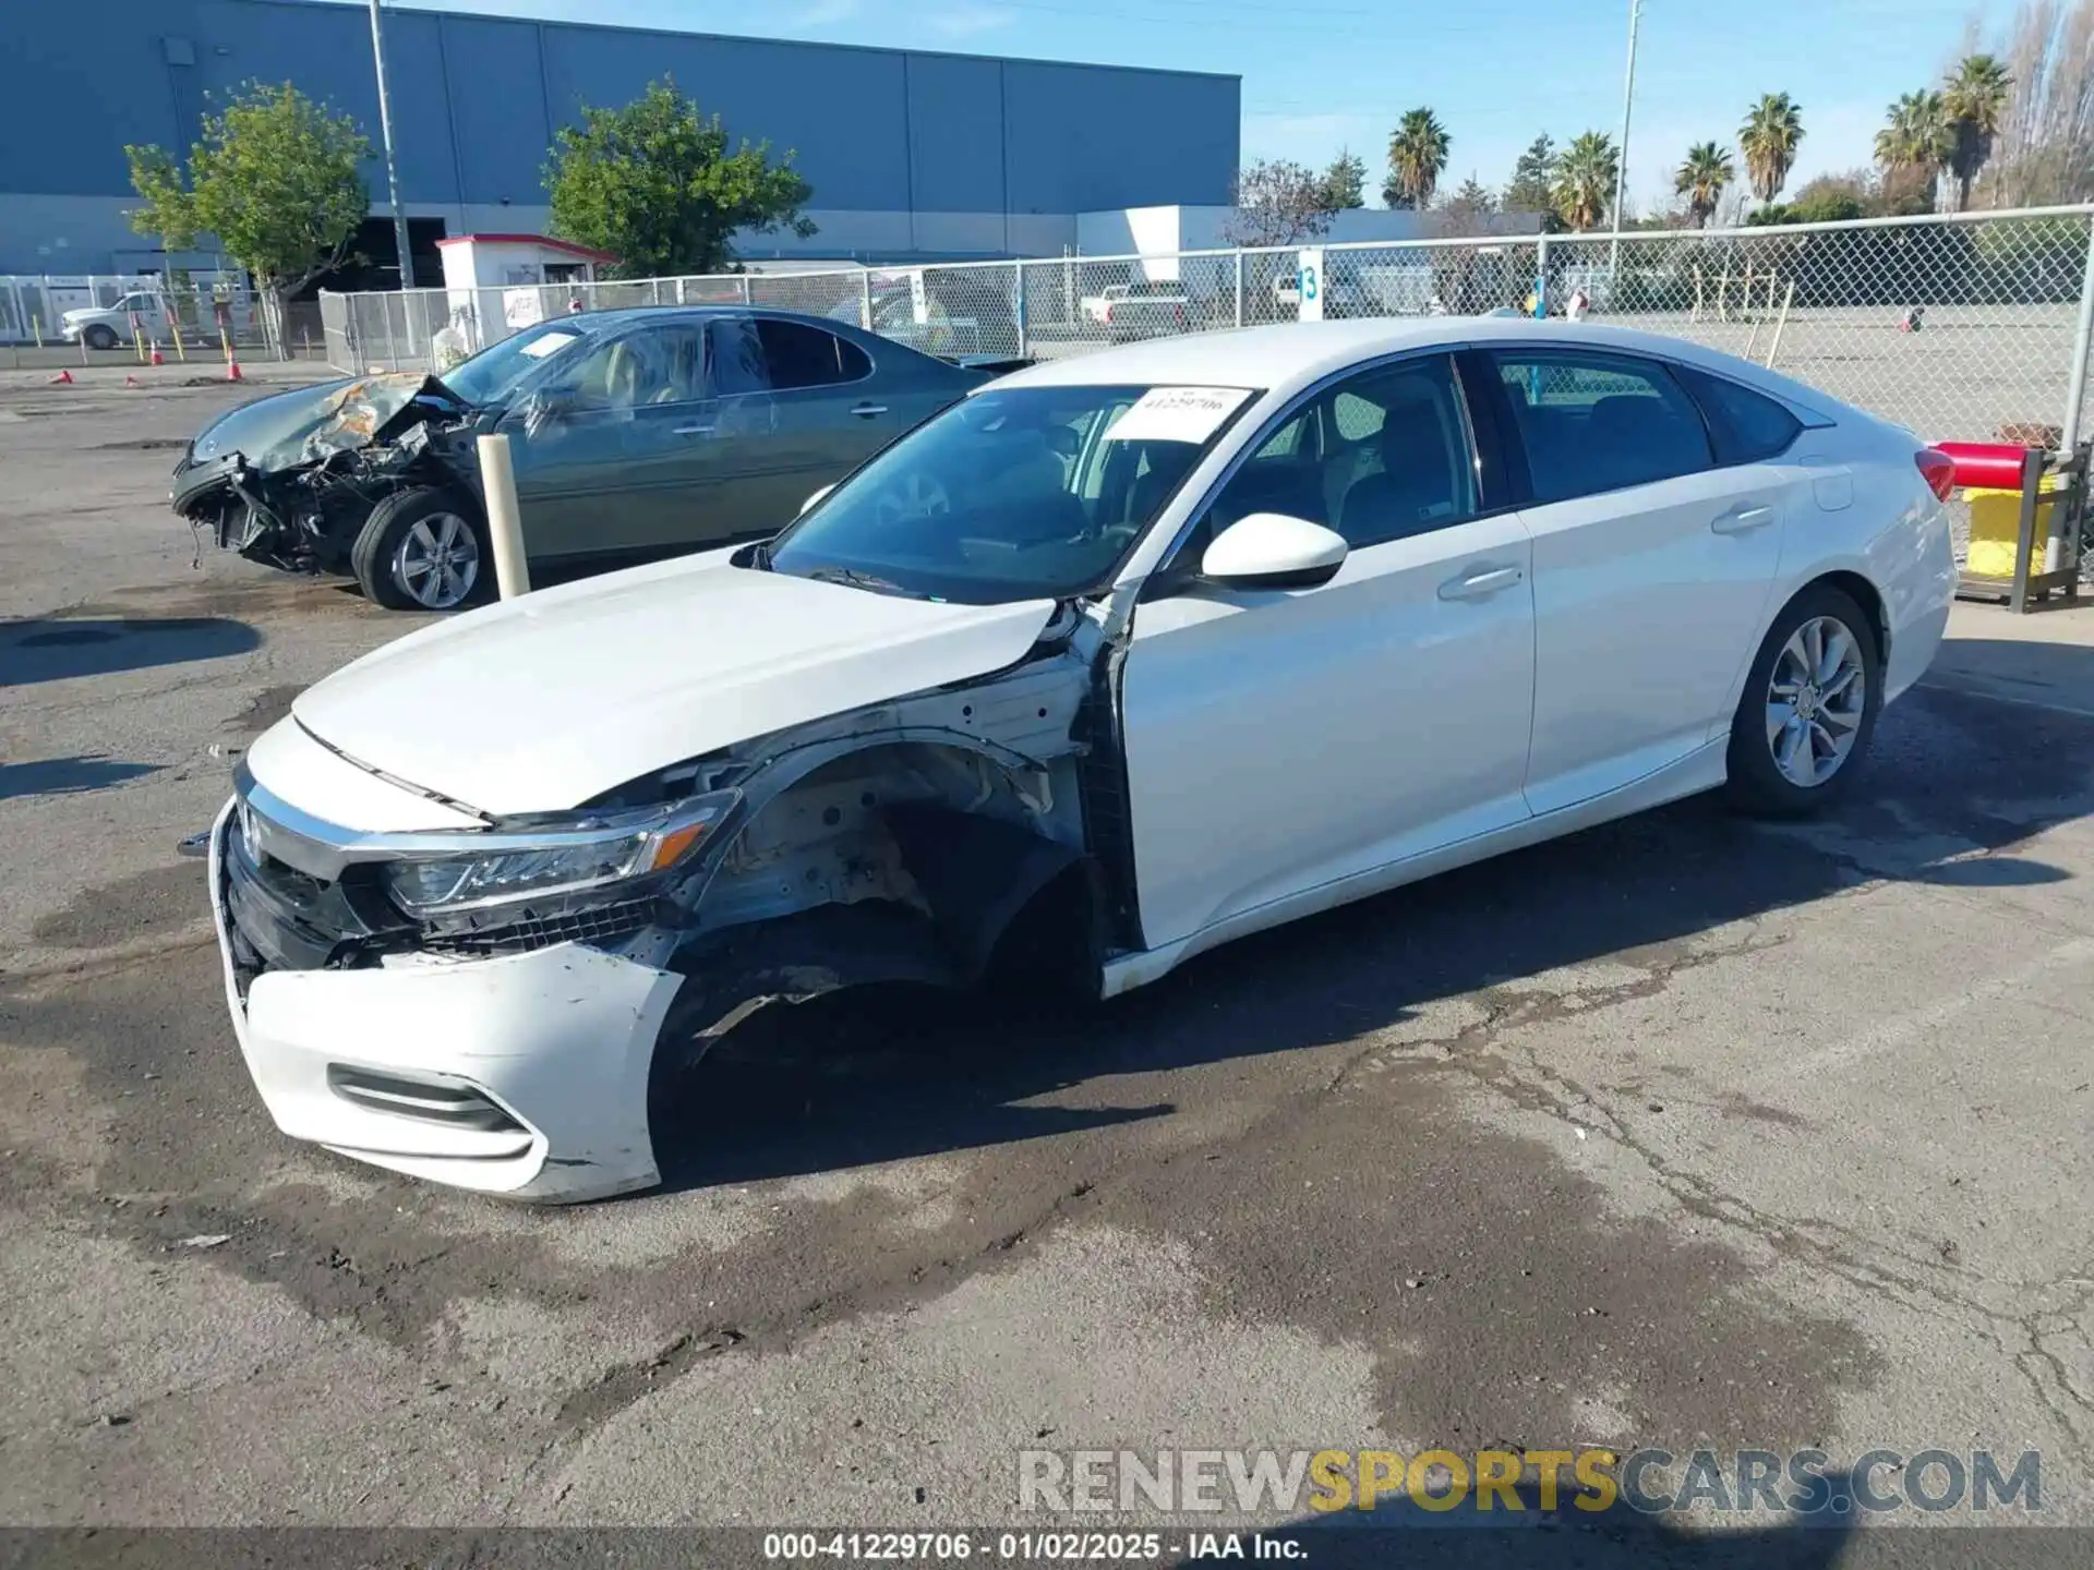
M 1573 306 L 1782 371 L 1926 440 L 2081 429 L 2094 207 L 1734 230 L 735 272 L 322 295 L 343 371 L 444 368 L 570 310 L 750 304 L 944 356 L 1060 358 L 1258 322 Z M 1307 285 L 1307 299 L 1305 299 Z M 2071 410 L 2067 408 L 2071 404 Z

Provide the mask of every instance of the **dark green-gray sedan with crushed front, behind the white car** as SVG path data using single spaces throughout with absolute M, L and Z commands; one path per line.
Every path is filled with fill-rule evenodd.
M 354 377 L 235 408 L 191 442 L 170 502 L 218 546 L 350 574 L 387 609 L 490 588 L 475 438 L 511 438 L 534 563 L 611 563 L 775 534 L 986 368 L 792 312 L 567 316 L 442 379 Z

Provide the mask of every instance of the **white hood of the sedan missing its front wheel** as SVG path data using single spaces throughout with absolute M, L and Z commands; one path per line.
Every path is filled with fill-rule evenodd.
M 750 737 L 986 676 L 1053 615 L 1053 601 L 940 605 L 729 555 L 438 622 L 343 666 L 291 714 L 366 768 L 482 812 L 561 812 Z

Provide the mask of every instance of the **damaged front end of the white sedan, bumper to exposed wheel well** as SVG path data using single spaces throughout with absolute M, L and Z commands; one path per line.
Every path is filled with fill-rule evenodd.
M 687 1072 L 764 1003 L 990 975 L 1095 994 L 1139 942 L 1110 668 L 1064 603 L 986 676 L 557 816 L 431 798 L 440 833 L 318 825 L 243 772 L 211 881 L 249 1070 L 291 1135 L 565 1202 L 651 1187 Z M 297 772 L 360 768 L 283 745 L 327 754 Z

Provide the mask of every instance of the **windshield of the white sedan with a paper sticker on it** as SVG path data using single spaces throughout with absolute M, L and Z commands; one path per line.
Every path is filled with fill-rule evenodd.
M 781 534 L 773 571 L 1001 605 L 1110 582 L 1248 387 L 1007 387 L 879 452 Z

